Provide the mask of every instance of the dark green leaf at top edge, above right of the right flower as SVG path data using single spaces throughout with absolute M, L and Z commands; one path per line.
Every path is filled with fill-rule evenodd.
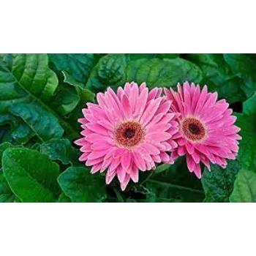
M 219 98 L 225 98 L 229 103 L 246 99 L 244 80 L 233 72 L 222 53 L 187 53 L 185 57 L 202 69 L 202 83 L 210 91 L 218 91 Z

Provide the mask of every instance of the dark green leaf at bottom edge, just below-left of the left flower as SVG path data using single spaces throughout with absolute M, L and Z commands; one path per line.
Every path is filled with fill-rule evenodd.
M 69 167 L 58 178 L 64 194 L 71 198 L 72 203 L 103 203 L 105 202 L 105 179 L 92 175 L 89 168 Z

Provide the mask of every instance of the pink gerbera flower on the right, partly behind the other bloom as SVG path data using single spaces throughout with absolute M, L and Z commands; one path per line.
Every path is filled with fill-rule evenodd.
M 165 89 L 165 94 L 173 100 L 170 112 L 181 113 L 173 159 L 186 155 L 189 171 L 197 178 L 201 178 L 200 162 L 211 170 L 209 161 L 225 168 L 226 159 L 236 159 L 241 139 L 236 133 L 241 129 L 234 125 L 236 116 L 231 116 L 225 99 L 217 101 L 217 92 L 208 93 L 207 86 L 200 91 L 199 85 L 187 82 L 183 87 L 178 84 L 178 92 Z

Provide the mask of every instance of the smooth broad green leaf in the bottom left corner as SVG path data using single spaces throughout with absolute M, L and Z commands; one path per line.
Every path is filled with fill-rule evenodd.
M 4 176 L 23 203 L 56 203 L 59 165 L 27 148 L 7 148 L 2 157 Z

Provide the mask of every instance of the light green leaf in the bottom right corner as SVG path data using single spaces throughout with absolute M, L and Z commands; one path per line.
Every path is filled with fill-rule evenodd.
M 230 203 L 256 203 L 256 173 L 249 170 L 241 170 L 238 173 Z

